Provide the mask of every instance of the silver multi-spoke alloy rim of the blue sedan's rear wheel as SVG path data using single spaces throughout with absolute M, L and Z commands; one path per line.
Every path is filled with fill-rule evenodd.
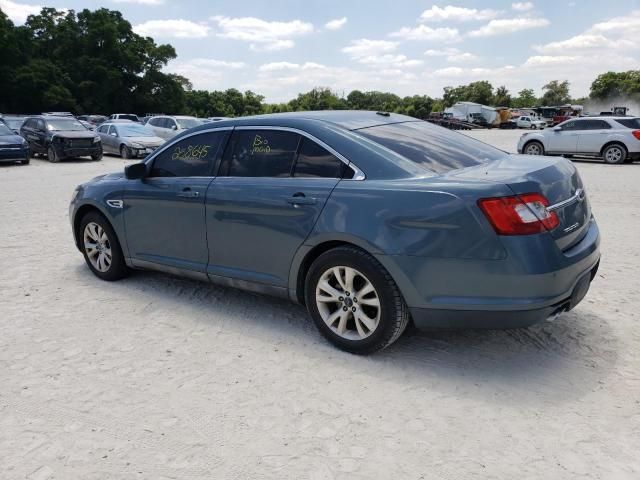
M 347 340 L 371 335 L 382 313 L 373 284 L 358 270 L 345 266 L 322 274 L 316 286 L 316 306 L 327 326 Z

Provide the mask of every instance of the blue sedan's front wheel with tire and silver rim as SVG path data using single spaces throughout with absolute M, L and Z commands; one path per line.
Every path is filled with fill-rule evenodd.
M 82 217 L 77 238 L 84 260 L 96 277 L 112 282 L 127 276 L 129 269 L 116 232 L 102 214 L 89 212 Z

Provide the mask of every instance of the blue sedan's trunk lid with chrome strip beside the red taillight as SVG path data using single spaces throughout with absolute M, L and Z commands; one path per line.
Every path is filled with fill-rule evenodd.
M 551 231 L 558 247 L 570 248 L 585 234 L 591 207 L 575 166 L 565 158 L 507 155 L 503 159 L 467 168 L 457 177 L 506 184 L 515 194 L 541 193 L 560 224 Z

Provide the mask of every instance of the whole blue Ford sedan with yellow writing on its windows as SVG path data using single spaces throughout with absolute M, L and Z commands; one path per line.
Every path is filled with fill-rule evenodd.
M 522 327 L 587 293 L 599 233 L 563 158 L 414 118 L 299 112 L 188 130 L 73 194 L 91 271 L 152 269 L 305 304 L 338 347 Z

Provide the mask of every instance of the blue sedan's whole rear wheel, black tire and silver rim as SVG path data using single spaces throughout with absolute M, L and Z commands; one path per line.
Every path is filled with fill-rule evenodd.
M 356 295 L 365 289 L 358 299 Z M 305 302 L 329 342 L 360 355 L 391 345 L 410 319 L 409 308 L 391 275 L 374 257 L 354 247 L 329 250 L 311 264 L 305 279 Z

